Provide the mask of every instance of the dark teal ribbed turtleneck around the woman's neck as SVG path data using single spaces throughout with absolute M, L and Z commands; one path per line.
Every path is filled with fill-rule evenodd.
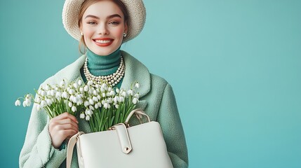
M 87 48 L 86 56 L 88 57 L 88 69 L 94 76 L 107 76 L 117 71 L 120 61 L 120 47 L 109 55 L 97 55 Z M 86 83 L 87 79 L 81 67 L 81 77 Z M 123 78 L 115 85 L 120 88 Z

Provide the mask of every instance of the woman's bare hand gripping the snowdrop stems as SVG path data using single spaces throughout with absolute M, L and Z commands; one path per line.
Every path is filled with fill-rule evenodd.
M 67 137 L 72 137 L 79 132 L 79 122 L 74 116 L 65 112 L 52 118 L 49 122 L 49 133 L 51 135 L 52 145 L 55 148 L 60 148 L 62 142 Z

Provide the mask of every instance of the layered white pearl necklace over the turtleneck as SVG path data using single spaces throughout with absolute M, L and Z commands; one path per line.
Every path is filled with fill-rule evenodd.
M 123 57 L 121 56 L 121 61 L 117 71 L 108 76 L 93 76 L 93 74 L 88 69 L 88 57 L 86 57 L 85 64 L 83 65 L 83 73 L 86 76 L 87 80 L 93 80 L 96 83 L 101 83 L 105 80 L 109 85 L 117 85 L 120 82 L 121 78 L 124 76 L 126 71 L 126 65 L 123 63 Z

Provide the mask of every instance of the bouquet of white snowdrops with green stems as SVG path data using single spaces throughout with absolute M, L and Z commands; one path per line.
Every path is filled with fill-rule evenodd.
M 88 121 L 92 132 L 105 131 L 117 123 L 124 123 L 128 114 L 135 109 L 139 102 L 139 93 L 136 92 L 139 83 L 133 83 L 129 90 L 113 88 L 107 83 L 95 83 L 82 80 L 67 83 L 62 80 L 60 85 L 45 85 L 33 94 L 19 97 L 15 106 L 36 104 L 36 109 L 44 109 L 49 118 L 54 118 L 68 112 Z

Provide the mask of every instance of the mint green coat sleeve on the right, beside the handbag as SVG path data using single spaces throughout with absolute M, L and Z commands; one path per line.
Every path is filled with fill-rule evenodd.
M 157 121 L 161 125 L 168 155 L 174 168 L 188 167 L 188 153 L 185 134 L 175 102 L 173 88 L 167 84 L 163 92 Z

